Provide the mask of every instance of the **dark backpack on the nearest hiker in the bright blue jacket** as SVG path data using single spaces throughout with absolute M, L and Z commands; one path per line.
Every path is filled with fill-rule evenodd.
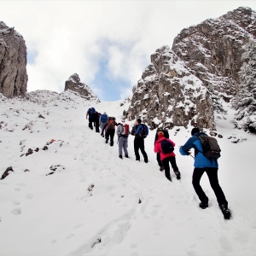
M 203 148 L 203 152 L 200 152 L 211 160 L 217 160 L 220 157 L 221 151 L 217 139 L 215 137 L 208 137 L 207 135 L 199 135 L 198 137 Z

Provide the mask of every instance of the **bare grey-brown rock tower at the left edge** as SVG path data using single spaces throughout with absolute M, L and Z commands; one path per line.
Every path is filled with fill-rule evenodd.
M 14 27 L 0 21 L 0 93 L 25 96 L 27 85 L 26 44 Z

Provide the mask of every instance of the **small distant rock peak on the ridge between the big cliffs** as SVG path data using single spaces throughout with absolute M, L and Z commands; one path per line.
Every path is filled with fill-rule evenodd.
M 84 96 L 88 101 L 101 102 L 97 96 L 90 90 L 90 87 L 87 84 L 80 82 L 79 75 L 74 73 L 65 83 L 65 90 L 73 90 L 79 95 Z

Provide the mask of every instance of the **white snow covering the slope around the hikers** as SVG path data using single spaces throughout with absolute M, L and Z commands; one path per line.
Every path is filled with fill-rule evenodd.
M 110 147 L 90 131 L 89 107 L 120 120 L 128 102 L 120 107 L 121 101 L 54 95 L 42 92 L 42 102 L 0 96 L 0 174 L 9 166 L 15 171 L 0 180 L 0 255 L 255 255 L 256 137 L 233 129 L 235 111 L 216 121 L 223 136 L 219 183 L 232 211 L 232 219 L 224 220 L 206 174 L 201 185 L 209 208 L 198 207 L 193 159 L 178 154 L 191 126 L 169 131 L 182 174 L 177 180 L 171 171 L 170 183 L 155 160 L 155 131 L 145 139 L 148 164 L 135 161 L 133 137 L 130 158 L 120 160 L 116 136 Z M 23 131 L 31 121 L 31 130 Z M 132 127 L 134 120 L 125 123 Z M 229 137 L 247 140 L 231 143 Z M 46 143 L 49 149 L 42 150 Z M 39 151 L 20 157 L 28 148 Z M 60 166 L 46 176 L 53 165 Z

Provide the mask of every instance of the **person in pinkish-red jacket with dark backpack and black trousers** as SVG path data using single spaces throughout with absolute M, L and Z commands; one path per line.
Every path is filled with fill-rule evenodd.
M 169 138 L 166 138 L 163 131 L 158 133 L 158 140 L 154 144 L 154 153 L 160 153 L 160 160 L 164 165 L 166 178 L 172 181 L 170 174 L 169 162 L 172 165 L 173 172 L 176 174 L 177 179 L 180 179 L 180 172 L 176 165 L 176 158 L 173 152 L 175 143 Z

